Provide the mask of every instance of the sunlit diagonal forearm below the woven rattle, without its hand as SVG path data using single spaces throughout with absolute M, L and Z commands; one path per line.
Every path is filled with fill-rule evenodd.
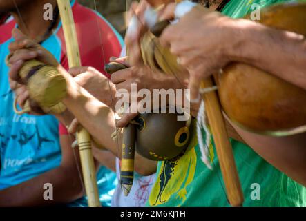
M 121 158 L 122 134 L 118 133 L 115 141 L 111 137 L 116 128 L 115 115 L 111 108 L 99 102 L 87 90 L 80 87 L 63 68 L 59 68 L 59 70 L 64 73 L 68 83 L 67 96 L 63 100 L 64 104 L 79 123 L 88 130 L 100 148 L 106 148 Z M 155 173 L 156 166 L 157 162 L 135 153 L 135 171 L 140 175 Z

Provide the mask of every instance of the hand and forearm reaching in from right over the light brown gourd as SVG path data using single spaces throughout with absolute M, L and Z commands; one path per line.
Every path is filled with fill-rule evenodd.
M 171 19 L 177 6 L 169 4 L 160 19 Z M 200 82 L 231 61 L 240 61 L 306 89 L 306 39 L 303 35 L 269 28 L 245 19 L 231 19 L 195 6 L 168 26 L 160 43 L 170 48 L 189 71 L 191 99 Z

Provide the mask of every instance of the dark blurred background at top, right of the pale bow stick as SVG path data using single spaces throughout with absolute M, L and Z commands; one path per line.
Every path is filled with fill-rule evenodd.
M 133 0 L 77 0 L 83 6 L 95 10 L 95 3 L 97 4 L 97 11 L 100 12 L 122 35 L 126 30 L 126 12 Z

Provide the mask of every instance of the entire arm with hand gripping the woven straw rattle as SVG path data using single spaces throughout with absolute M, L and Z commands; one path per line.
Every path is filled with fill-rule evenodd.
M 114 153 L 117 157 L 121 157 L 121 142 L 122 137 L 118 137 L 117 141 L 114 142 L 111 138 L 111 134 L 115 131 L 115 118 L 114 113 L 111 111 L 111 108 L 102 102 L 99 102 L 98 99 L 90 95 L 88 91 L 79 86 L 73 77 L 66 72 L 66 70 L 57 63 L 56 59 L 44 48 L 41 48 L 38 44 L 33 41 L 30 41 L 23 35 L 19 30 L 15 29 L 12 31 L 12 35 L 15 38 L 15 42 L 10 44 L 10 51 L 14 52 L 14 55 L 10 58 L 10 83 L 12 85 L 16 84 L 19 81 L 20 84 L 24 84 L 20 81 L 19 78 L 19 69 L 23 66 L 24 61 L 29 59 L 39 59 L 43 61 L 45 64 L 50 64 L 52 66 L 56 66 L 60 73 L 66 77 L 67 81 L 67 97 L 64 99 L 64 104 L 71 111 L 65 111 L 61 113 L 61 115 L 57 115 L 59 120 L 65 125 L 68 126 L 73 117 L 77 117 L 79 122 L 88 130 L 88 132 L 92 135 L 93 140 L 95 140 L 99 146 L 103 146 L 107 148 L 109 151 Z M 31 48 L 31 52 L 29 49 Z M 22 49 L 22 50 L 21 50 Z M 17 52 L 18 50 L 18 52 Z M 102 75 L 99 75 L 100 77 Z M 104 79 L 105 80 L 105 79 Z M 97 83 L 97 81 L 95 81 Z M 106 84 L 108 85 L 108 84 Z M 107 88 L 107 87 L 106 87 Z M 16 88 L 12 88 L 15 90 Z M 26 87 L 23 86 L 23 90 L 21 93 L 26 93 L 24 91 Z M 17 93 L 17 90 L 15 90 Z M 105 93 L 109 93 L 107 91 Z M 104 94 L 104 93 L 102 93 Z M 18 96 L 21 97 L 21 96 Z M 28 99 L 28 95 L 22 96 L 23 101 L 19 101 L 18 103 L 23 106 L 25 100 Z M 107 96 L 106 96 L 107 97 Z M 108 96 L 109 98 L 109 96 Z M 145 174 L 153 174 L 156 171 L 156 162 L 151 160 L 147 160 L 140 155 L 135 155 L 135 165 L 140 165 L 139 171 L 137 171 L 137 166 L 135 167 L 135 171 L 138 173 Z

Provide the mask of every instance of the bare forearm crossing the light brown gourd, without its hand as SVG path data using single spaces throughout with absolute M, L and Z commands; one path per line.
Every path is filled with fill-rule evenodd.
M 294 32 L 238 20 L 233 60 L 267 71 L 306 90 L 306 39 Z

